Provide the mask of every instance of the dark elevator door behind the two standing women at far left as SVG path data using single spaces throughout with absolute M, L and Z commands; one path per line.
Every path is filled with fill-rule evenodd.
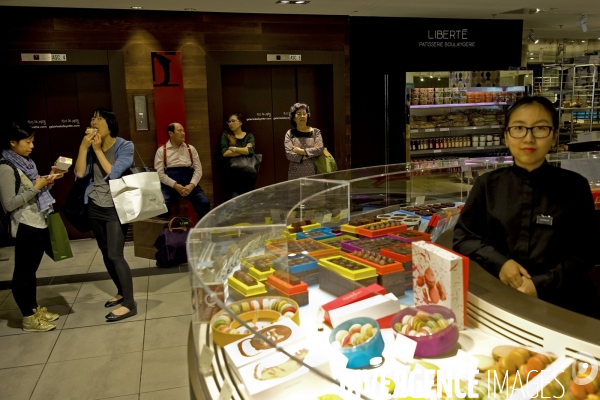
M 111 108 L 108 67 L 12 67 L 11 78 L 2 84 L 3 119 L 25 119 L 35 129 L 31 158 L 40 174 L 60 156 L 77 158 L 91 112 Z M 9 95 L 10 94 L 10 95 Z M 54 210 L 60 211 L 71 190 L 73 167 L 52 189 Z M 63 218 L 64 219 L 64 218 Z M 71 239 L 92 237 L 82 234 L 65 221 Z

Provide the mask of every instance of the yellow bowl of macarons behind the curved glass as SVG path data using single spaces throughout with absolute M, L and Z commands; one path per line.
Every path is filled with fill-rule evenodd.
M 274 300 L 277 300 L 278 302 L 285 301 L 286 303 L 292 305 L 292 307 L 294 307 L 296 309 L 296 312 L 290 319 L 292 321 L 294 321 L 296 323 L 296 325 L 300 325 L 300 310 L 299 310 L 298 303 L 296 303 L 294 300 L 290 299 L 289 297 L 283 297 L 283 296 L 252 297 L 252 298 L 249 298 L 248 300 L 240 300 L 240 301 L 231 303 L 228 305 L 229 310 L 230 310 L 229 312 L 227 312 L 226 310 L 221 310 L 212 317 L 212 319 L 210 320 L 210 327 L 211 327 L 211 331 L 212 331 L 213 342 L 215 342 L 217 344 L 217 346 L 223 347 L 223 346 L 228 345 L 229 343 L 233 343 L 235 341 L 238 341 L 238 340 L 243 339 L 246 336 L 250 335 L 250 333 L 243 333 L 243 334 L 223 333 L 221 331 L 216 330 L 214 324 L 222 315 L 229 314 L 229 313 L 233 314 L 234 311 L 232 310 L 232 308 L 236 308 L 236 307 L 234 307 L 234 305 L 237 306 L 240 310 L 243 310 L 243 307 L 242 307 L 243 303 L 249 304 L 251 301 L 256 300 L 256 301 L 258 301 L 259 304 L 262 305 L 264 299 L 274 299 Z M 244 322 L 252 322 L 256 318 L 257 321 L 274 323 L 277 320 L 279 320 L 279 318 L 281 318 L 281 313 L 276 310 L 260 309 L 260 310 L 251 310 L 251 311 L 247 311 L 247 312 L 242 312 L 242 313 L 238 314 L 238 317 Z M 236 329 L 241 325 L 239 322 L 237 322 L 233 318 L 231 318 L 231 319 L 232 319 L 232 322 L 230 323 L 229 326 L 232 329 Z

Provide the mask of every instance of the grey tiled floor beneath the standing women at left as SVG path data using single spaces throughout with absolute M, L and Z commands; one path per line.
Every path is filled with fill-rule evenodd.
M 105 271 L 94 241 L 73 242 L 72 248 L 73 259 L 46 259 L 38 276 Z M 0 250 L 11 257 L 0 262 L 0 280 L 9 280 L 12 255 Z M 126 258 L 132 269 L 154 264 L 134 257 L 131 247 Z M 0 398 L 189 399 L 189 276 L 133 281 L 138 315 L 117 323 L 104 319 L 110 311 L 104 303 L 116 291 L 110 280 L 40 286 L 38 302 L 60 314 L 57 329 L 43 333 L 23 332 L 11 291 L 0 290 Z

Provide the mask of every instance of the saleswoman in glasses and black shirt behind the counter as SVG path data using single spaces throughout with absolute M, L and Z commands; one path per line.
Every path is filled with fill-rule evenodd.
M 588 181 L 550 166 L 558 113 L 543 97 L 525 97 L 506 114 L 514 158 L 475 180 L 454 230 L 454 250 L 513 288 L 600 318 L 590 277 L 598 228 Z

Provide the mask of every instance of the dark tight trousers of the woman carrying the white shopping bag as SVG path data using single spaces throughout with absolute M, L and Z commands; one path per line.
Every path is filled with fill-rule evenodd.
M 123 255 L 129 224 L 121 224 L 114 207 L 100 207 L 92 200 L 87 205 L 87 213 L 106 270 L 117 287 L 117 294 L 123 296 L 123 307 L 133 310 L 133 278 Z

